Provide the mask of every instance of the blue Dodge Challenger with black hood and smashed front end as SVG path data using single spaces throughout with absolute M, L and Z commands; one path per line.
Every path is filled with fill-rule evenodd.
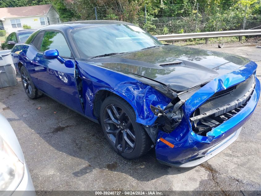
M 163 45 L 122 21 L 49 25 L 12 54 L 29 98 L 101 124 L 126 159 L 155 148 L 160 163 L 199 165 L 238 138 L 260 95 L 255 62 Z

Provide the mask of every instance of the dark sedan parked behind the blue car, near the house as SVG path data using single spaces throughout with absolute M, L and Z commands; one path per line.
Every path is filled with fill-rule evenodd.
M 11 50 L 16 43 L 25 42 L 27 38 L 35 32 L 36 29 L 24 29 L 19 30 L 13 33 L 10 33 L 6 38 L 6 41 L 2 43 L 1 49 L 2 50 Z

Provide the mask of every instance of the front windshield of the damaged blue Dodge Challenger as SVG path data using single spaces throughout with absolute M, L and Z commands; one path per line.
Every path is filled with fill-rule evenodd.
M 163 46 L 149 33 L 130 24 L 110 24 L 75 29 L 71 31 L 71 36 L 82 58 Z

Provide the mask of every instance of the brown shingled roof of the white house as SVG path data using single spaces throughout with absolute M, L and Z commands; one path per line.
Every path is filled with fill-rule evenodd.
M 52 4 L 27 7 L 4 7 L 0 8 L 0 20 L 4 18 L 17 18 L 26 16 L 44 15 L 52 7 Z

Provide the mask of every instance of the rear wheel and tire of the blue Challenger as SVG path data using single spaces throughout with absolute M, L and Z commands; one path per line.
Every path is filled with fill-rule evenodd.
M 36 98 L 41 97 L 43 95 L 43 93 L 40 92 L 35 87 L 34 83 L 32 82 L 32 78 L 31 78 L 29 72 L 27 71 L 27 69 L 24 66 L 22 66 L 20 72 L 21 72 L 23 89 L 24 89 L 25 93 L 27 94 L 27 96 L 30 99 L 36 99 Z

